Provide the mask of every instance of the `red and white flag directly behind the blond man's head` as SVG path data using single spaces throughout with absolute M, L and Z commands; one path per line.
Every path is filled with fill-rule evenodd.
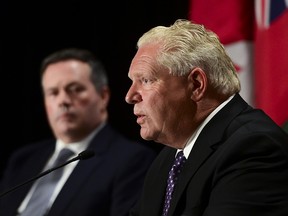
M 237 69 L 240 95 L 254 105 L 253 20 L 251 0 L 190 0 L 189 19 L 215 32 Z

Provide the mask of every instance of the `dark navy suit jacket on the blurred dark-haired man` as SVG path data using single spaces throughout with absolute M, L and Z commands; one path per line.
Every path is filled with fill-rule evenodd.
M 6 169 L 2 191 L 40 173 L 54 147 L 55 140 L 51 140 L 18 151 Z M 156 152 L 128 141 L 109 125 L 99 131 L 89 149 L 95 151 L 95 156 L 79 161 L 49 216 L 124 216 L 135 204 Z M 0 198 L 0 215 L 15 216 L 30 187 Z

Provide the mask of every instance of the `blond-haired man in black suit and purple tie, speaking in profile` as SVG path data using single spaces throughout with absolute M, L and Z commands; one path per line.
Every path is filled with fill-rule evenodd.
M 141 137 L 166 147 L 131 215 L 287 216 L 288 136 L 242 99 L 217 35 L 177 20 L 137 46 L 126 101 Z

